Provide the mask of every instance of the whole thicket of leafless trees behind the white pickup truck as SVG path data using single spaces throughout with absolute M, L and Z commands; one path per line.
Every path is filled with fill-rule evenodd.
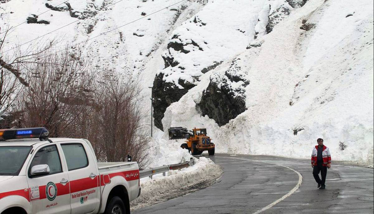
M 2 49 L 8 31 L 0 41 L 0 110 L 11 116 L 9 126 L 44 126 L 51 137 L 87 138 L 98 160 L 126 161 L 129 154 L 140 168 L 148 165 L 137 81 L 113 70 L 98 75 L 80 48 L 56 50 L 53 41 L 7 57 Z

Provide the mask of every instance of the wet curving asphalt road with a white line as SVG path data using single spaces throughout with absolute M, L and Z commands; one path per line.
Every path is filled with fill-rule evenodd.
M 373 214 L 373 169 L 334 165 L 317 188 L 310 161 L 215 154 L 224 174 L 212 186 L 132 214 Z M 302 176 L 302 177 L 301 177 Z

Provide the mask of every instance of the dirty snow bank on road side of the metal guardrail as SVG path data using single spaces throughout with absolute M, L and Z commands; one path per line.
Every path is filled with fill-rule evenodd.
M 194 158 L 194 161 L 194 166 L 181 171 L 168 171 L 166 177 L 158 174 L 153 176 L 153 180 L 141 179 L 141 195 L 131 202 L 131 209 L 136 210 L 203 189 L 214 183 L 223 172 L 209 158 Z

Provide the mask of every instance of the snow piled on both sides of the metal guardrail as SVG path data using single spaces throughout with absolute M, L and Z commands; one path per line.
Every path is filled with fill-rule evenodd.
M 158 139 L 150 142 L 149 167 L 157 167 L 169 164 L 184 163 L 193 158 L 194 165 L 179 170 L 171 170 L 163 176 L 162 173 L 155 174 L 152 179 L 144 177 L 140 179 L 141 195 L 131 202 L 131 209 L 136 210 L 142 207 L 167 201 L 190 192 L 203 189 L 221 176 L 222 169 L 205 157 L 199 159 L 182 149 L 180 145 L 185 139 L 165 140 Z

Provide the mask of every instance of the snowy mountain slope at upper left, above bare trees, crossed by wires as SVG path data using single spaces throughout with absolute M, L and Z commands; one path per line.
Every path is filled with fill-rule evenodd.
M 69 12 L 65 1 L 9 0 L 0 3 L 2 31 L 7 26 L 16 26 L 7 37 L 6 48 L 10 49 L 36 38 L 38 39 L 21 48 L 50 39 L 61 41 L 61 47 L 81 43 L 80 46 L 85 51 L 99 57 L 100 66 L 114 67 L 122 73 L 142 76 L 146 64 L 157 55 L 154 53 L 168 38 L 174 25 L 179 26 L 180 22 L 193 16 L 204 4 L 203 0 L 183 1 L 179 4 L 176 3 L 180 0 L 77 0 L 68 1 L 71 7 Z M 47 11 L 55 6 L 57 8 Z M 158 10 L 161 11 L 157 12 Z M 43 14 L 39 15 L 41 13 Z M 150 15 L 151 13 L 154 14 Z M 34 18 L 34 15 L 39 17 L 31 21 L 37 23 L 17 26 L 28 18 Z M 137 19 L 140 20 L 133 22 Z M 7 53 L 11 55 L 12 50 Z M 157 59 L 160 59 L 159 56 Z M 162 59 L 160 62 L 162 63 Z M 151 64 L 153 74 L 145 75 L 152 78 L 147 83 L 148 86 L 151 86 L 157 72 L 155 63 Z

